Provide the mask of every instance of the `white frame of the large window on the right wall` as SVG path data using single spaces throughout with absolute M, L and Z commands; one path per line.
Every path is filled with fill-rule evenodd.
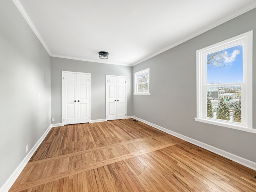
M 252 127 L 252 36 L 253 31 L 249 31 L 196 51 L 196 121 L 256 133 L 256 129 Z M 240 83 L 242 88 L 242 123 L 208 118 L 206 105 L 206 56 L 210 53 L 224 50 L 239 44 L 243 45 L 244 82 Z M 221 85 L 231 86 L 233 84 L 230 83 Z M 219 86 L 219 84 L 212 86 Z

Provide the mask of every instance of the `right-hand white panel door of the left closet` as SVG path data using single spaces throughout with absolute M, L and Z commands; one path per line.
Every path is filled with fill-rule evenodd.
M 89 75 L 77 74 L 77 123 L 89 122 Z

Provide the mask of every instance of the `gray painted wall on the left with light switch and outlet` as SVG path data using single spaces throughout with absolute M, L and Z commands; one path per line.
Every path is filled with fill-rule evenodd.
M 39 99 L 38 94 L 41 94 Z M 10 0 L 0 5 L 0 187 L 50 126 L 50 56 Z

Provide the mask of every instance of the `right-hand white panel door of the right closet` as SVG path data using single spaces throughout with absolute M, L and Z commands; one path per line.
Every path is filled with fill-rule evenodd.
M 126 78 L 116 78 L 116 119 L 126 118 Z

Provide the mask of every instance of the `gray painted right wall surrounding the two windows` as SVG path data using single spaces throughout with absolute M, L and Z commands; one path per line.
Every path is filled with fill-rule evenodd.
M 196 122 L 196 50 L 254 30 L 253 127 L 256 128 L 256 9 L 133 67 L 150 68 L 151 95 L 134 95 L 134 115 L 256 162 L 256 134 Z M 189 93 L 189 94 L 188 94 Z M 189 96 L 188 96 L 189 95 Z

